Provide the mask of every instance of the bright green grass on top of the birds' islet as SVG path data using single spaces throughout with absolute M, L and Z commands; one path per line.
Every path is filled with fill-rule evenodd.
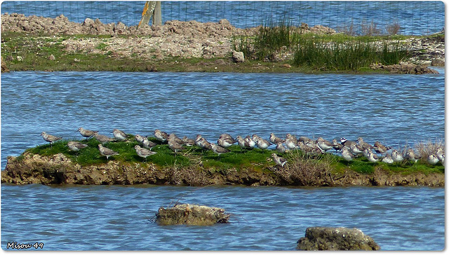
M 132 137 L 132 136 L 130 136 Z M 203 151 L 198 146 L 188 147 L 185 151 L 177 153 L 174 156 L 173 151 L 168 148 L 167 144 L 160 144 L 157 142 L 152 151 L 157 153 L 147 158 L 147 163 L 135 153 L 134 146 L 138 144 L 135 139 L 130 138 L 128 142 L 109 142 L 105 146 L 109 149 L 119 152 L 118 156 L 112 156 L 109 160 L 118 160 L 128 163 L 154 164 L 156 168 L 162 169 L 166 167 L 201 167 L 203 169 L 212 170 L 213 172 L 226 171 L 234 169 L 240 170 L 255 170 L 276 172 L 276 174 L 303 174 L 309 176 L 312 180 L 314 174 L 333 174 L 338 176 L 345 170 L 353 170 L 360 174 L 372 174 L 375 170 L 384 170 L 391 173 L 410 174 L 422 172 L 424 174 L 430 173 L 444 173 L 444 166 L 441 163 L 437 165 L 429 165 L 426 160 L 419 160 L 417 163 L 410 163 L 404 161 L 403 163 L 386 164 L 382 162 L 370 163 L 365 157 L 359 157 L 351 162 L 345 161 L 342 157 L 332 153 L 323 155 L 307 155 L 302 151 L 293 151 L 282 155 L 288 160 L 288 167 L 277 167 L 271 160 L 271 154 L 275 151 L 261 149 L 252 149 L 248 151 L 241 151 L 239 146 L 233 145 L 229 147 L 230 153 L 224 153 L 217 156 L 213 151 Z M 27 152 L 39 154 L 41 156 L 51 156 L 57 153 L 62 153 L 79 165 L 100 165 L 107 163 L 107 159 L 100 155 L 98 151 L 99 142 L 96 139 L 89 139 L 79 142 L 85 142 L 88 147 L 81 149 L 81 151 L 73 152 L 67 148 L 68 141 L 55 142 L 53 146 L 49 144 L 36 146 L 32 149 L 27 149 Z M 18 157 L 20 159 L 20 156 Z M 287 171 L 287 172 L 286 172 Z

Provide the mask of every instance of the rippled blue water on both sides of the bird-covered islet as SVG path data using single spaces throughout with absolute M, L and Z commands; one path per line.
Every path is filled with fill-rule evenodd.
M 443 72 L 443 69 L 438 69 Z M 178 136 L 270 132 L 391 146 L 444 138 L 444 75 L 11 72 L 1 74 L 1 165 L 78 127 Z M 292 250 L 309 226 L 356 227 L 386 250 L 444 248 L 443 188 L 9 186 L 1 242 L 45 249 Z M 170 201 L 224 207 L 232 223 L 157 226 Z M 257 233 L 257 234 L 255 234 Z

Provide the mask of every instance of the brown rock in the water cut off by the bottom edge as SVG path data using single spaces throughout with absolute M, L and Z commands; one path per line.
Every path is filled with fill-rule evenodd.
M 357 228 L 312 227 L 306 229 L 305 237 L 297 240 L 296 248 L 307 251 L 375 251 L 380 249 L 380 246 L 374 242 L 373 238 L 363 234 Z

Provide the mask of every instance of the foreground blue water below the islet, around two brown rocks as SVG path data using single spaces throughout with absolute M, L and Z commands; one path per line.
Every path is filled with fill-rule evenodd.
M 3 249 L 295 250 L 311 226 L 359 228 L 382 250 L 442 250 L 445 241 L 443 188 L 3 185 L 1 195 Z M 176 201 L 222 207 L 231 223 L 151 222 Z

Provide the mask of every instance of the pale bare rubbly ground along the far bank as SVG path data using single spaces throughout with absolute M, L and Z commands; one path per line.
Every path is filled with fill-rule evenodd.
M 229 62 L 222 60 L 213 63 L 218 71 L 220 71 L 220 65 L 233 63 L 230 56 L 233 52 L 233 43 L 235 43 L 236 36 L 254 36 L 258 29 L 259 27 L 239 29 L 232 26 L 228 20 L 206 23 L 194 20 L 189 22 L 170 20 L 162 26 L 144 25 L 138 28 L 137 26 L 128 27 L 121 22 L 103 24 L 100 20 L 89 18 L 81 23 L 70 22 L 64 15 L 57 18 L 25 16 L 17 13 L 1 15 L 2 33 L 26 33 L 30 36 L 40 36 L 43 41 L 46 41 L 46 38 L 53 37 L 54 39 L 54 37 L 58 37 L 57 40 L 47 40 L 46 43 L 61 43 L 63 51 L 67 54 L 85 53 L 94 55 L 107 53 L 113 59 L 138 58 L 149 61 L 163 61 L 173 57 L 183 59 L 202 58 L 204 60 L 229 59 Z M 335 30 L 320 25 L 309 27 L 303 24 L 301 29 L 304 33 L 336 33 Z M 64 35 L 77 34 L 104 36 L 62 38 Z M 444 36 L 438 36 L 438 38 L 409 37 L 400 42 L 410 48 L 411 63 L 400 68 L 391 67 L 394 69 L 392 72 L 406 74 L 434 73 L 434 70 L 428 69 L 427 66 L 444 66 Z M 293 58 L 293 53 L 288 52 L 288 50 L 281 50 L 274 54 L 273 59 L 276 60 L 274 62 L 290 61 Z M 55 60 L 54 56 L 48 57 Z M 13 60 L 15 59 L 6 57 L 7 62 Z M 415 64 L 415 66 L 410 67 L 410 64 Z M 376 66 L 373 69 L 389 71 L 389 67 L 380 68 Z M 156 71 L 156 69 L 150 71 Z

